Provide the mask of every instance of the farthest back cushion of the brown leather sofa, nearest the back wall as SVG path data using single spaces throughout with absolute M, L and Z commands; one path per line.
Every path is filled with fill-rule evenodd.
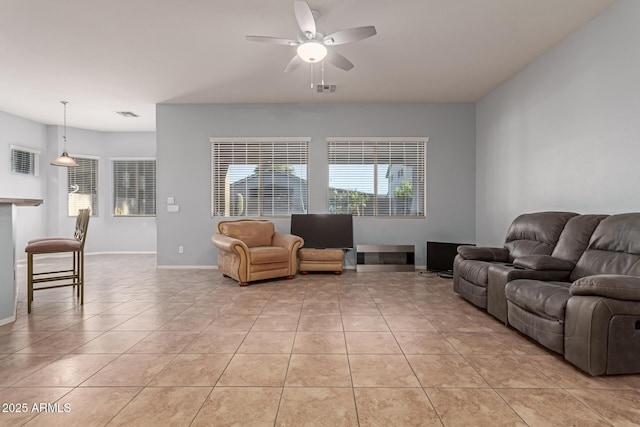
M 526 255 L 551 255 L 558 238 L 573 212 L 535 212 L 522 214 L 513 220 L 504 247 L 509 259 Z

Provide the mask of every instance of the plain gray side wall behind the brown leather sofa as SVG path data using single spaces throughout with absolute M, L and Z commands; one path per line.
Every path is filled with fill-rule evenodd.
M 476 240 L 522 212 L 640 210 L 640 2 L 621 0 L 476 106 Z

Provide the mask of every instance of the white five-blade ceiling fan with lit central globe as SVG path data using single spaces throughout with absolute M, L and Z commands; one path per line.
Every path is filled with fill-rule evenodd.
M 313 64 L 325 59 L 335 67 L 349 71 L 354 67 L 351 61 L 328 48 L 376 35 L 376 27 L 373 25 L 349 28 L 324 35 L 316 27 L 316 20 L 320 14 L 315 10 L 311 10 L 309 4 L 304 0 L 294 0 L 293 12 L 301 31 L 297 40 L 267 36 L 246 36 L 249 41 L 296 47 L 297 54 L 284 68 L 285 73 L 293 71 L 304 62 Z

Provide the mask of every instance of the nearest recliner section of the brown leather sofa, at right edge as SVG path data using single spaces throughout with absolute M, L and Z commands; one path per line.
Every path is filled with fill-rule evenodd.
M 524 264 L 553 263 L 549 258 Z M 511 280 L 505 296 L 511 326 L 578 368 L 640 373 L 640 213 L 598 221 L 566 280 Z

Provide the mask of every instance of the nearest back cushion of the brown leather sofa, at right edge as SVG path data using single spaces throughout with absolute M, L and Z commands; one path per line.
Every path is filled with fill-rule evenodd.
M 640 276 L 640 213 L 611 215 L 600 221 L 570 279 L 596 274 Z

